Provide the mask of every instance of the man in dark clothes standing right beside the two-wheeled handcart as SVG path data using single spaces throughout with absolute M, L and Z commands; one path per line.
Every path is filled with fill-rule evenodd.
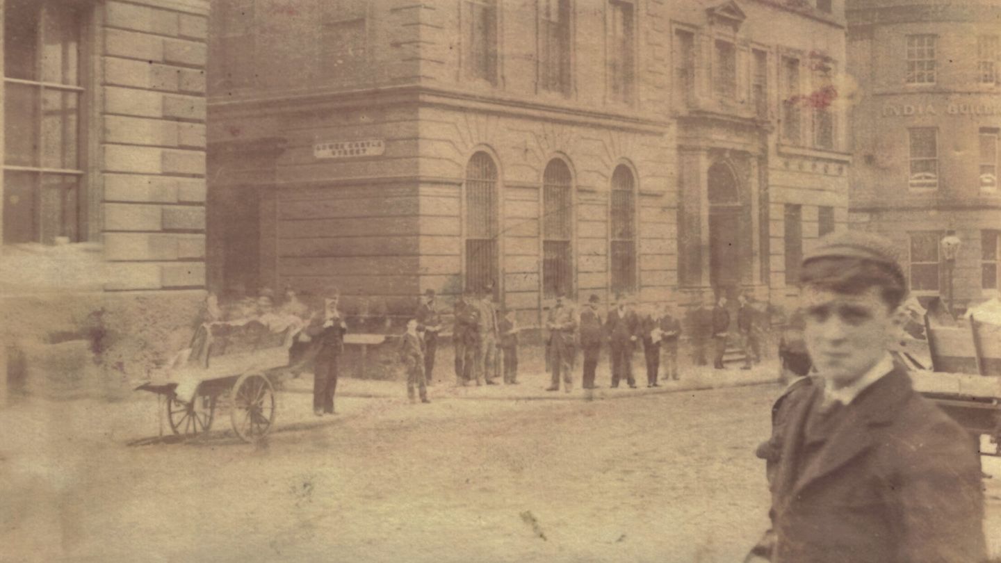
M 305 329 L 315 350 L 313 361 L 313 414 L 332 415 L 333 394 L 337 390 L 340 355 L 344 351 L 347 324 L 337 310 L 340 294 L 336 289 L 323 292 L 323 312 Z

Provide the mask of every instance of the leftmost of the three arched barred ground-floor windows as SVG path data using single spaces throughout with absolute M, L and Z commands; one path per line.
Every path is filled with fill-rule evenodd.
M 484 291 L 497 277 L 497 168 L 485 152 L 465 167 L 465 287 Z

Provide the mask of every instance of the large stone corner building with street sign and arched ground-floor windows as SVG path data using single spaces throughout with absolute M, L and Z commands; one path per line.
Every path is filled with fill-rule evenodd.
M 841 85 L 840 1 L 214 6 L 220 292 L 335 285 L 392 313 L 492 285 L 537 327 L 559 291 L 781 300 L 787 260 L 846 223 L 847 124 L 814 93 Z

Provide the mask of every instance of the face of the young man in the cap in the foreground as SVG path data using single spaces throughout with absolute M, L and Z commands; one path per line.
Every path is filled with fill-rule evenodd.
M 857 296 L 803 289 L 807 351 L 836 389 L 851 385 L 887 353 L 898 317 L 873 287 Z

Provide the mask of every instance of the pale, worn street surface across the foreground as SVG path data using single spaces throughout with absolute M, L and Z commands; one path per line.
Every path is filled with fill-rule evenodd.
M 317 419 L 293 382 L 257 446 L 222 414 L 205 437 L 129 447 L 157 433 L 152 398 L 22 403 L 0 412 L 0 560 L 740 561 L 767 523 L 752 452 L 777 385 L 547 383 L 438 384 L 431 405 L 409 405 L 401 383 L 345 380 L 339 414 Z

